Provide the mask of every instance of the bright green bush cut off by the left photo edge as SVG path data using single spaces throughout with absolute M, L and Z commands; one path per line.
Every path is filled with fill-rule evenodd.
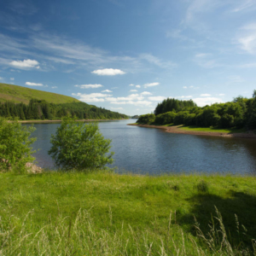
M 34 160 L 30 145 L 37 139 L 30 136 L 35 130 L 32 126 L 22 126 L 17 119 L 9 122 L 0 118 L 0 170 L 26 171 L 26 163 Z

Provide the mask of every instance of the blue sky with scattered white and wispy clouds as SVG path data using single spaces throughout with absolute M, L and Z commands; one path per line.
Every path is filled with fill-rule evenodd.
M 256 0 L 0 0 L 0 83 L 128 115 L 256 89 Z

